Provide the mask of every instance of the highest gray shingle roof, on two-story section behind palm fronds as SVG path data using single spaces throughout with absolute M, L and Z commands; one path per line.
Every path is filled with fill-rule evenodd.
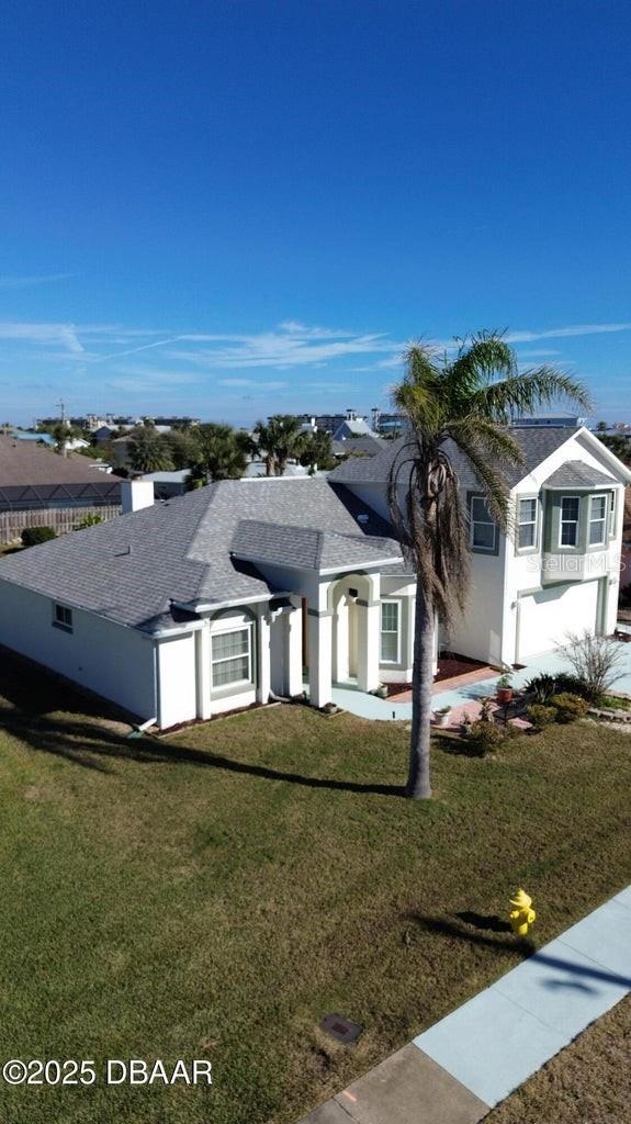
M 520 445 L 524 455 L 524 463 L 520 465 L 504 465 L 503 472 L 506 483 L 511 488 L 516 484 L 529 472 L 532 472 L 541 461 L 545 461 L 547 456 L 550 456 L 555 450 L 568 441 L 573 433 L 576 433 L 576 430 L 561 426 L 556 428 L 552 426 L 542 428 L 524 426 L 522 429 L 519 426 L 512 427 L 511 436 Z M 409 442 L 409 436 L 399 437 L 397 441 L 388 442 L 387 447 L 382 453 L 377 453 L 376 456 L 350 457 L 348 461 L 339 464 L 337 469 L 333 469 L 329 475 L 329 480 L 339 483 L 386 483 L 394 457 L 400 452 L 402 457 L 404 456 L 403 451 Z M 478 488 L 479 482 L 470 464 L 459 450 L 452 442 L 447 442 L 445 447 L 458 473 L 461 487 Z

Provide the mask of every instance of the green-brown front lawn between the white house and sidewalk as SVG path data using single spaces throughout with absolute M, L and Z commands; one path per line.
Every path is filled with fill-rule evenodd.
M 213 1064 L 212 1091 L 0 1084 L 11 1124 L 295 1122 L 519 961 L 484 921 L 518 885 L 543 943 L 631 881 L 610 728 L 496 760 L 438 741 L 413 804 L 395 724 L 276 707 L 127 741 L 31 671 L 1 681 L 0 1059 Z

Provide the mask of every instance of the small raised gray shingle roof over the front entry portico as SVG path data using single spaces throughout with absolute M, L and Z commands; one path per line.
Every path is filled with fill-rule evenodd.
M 260 523 L 257 519 L 243 519 L 239 523 L 231 551 L 236 558 L 255 563 L 269 562 L 307 570 L 366 565 L 401 554 L 399 545 L 392 538 L 371 538 L 362 534 L 292 527 L 278 523 Z

